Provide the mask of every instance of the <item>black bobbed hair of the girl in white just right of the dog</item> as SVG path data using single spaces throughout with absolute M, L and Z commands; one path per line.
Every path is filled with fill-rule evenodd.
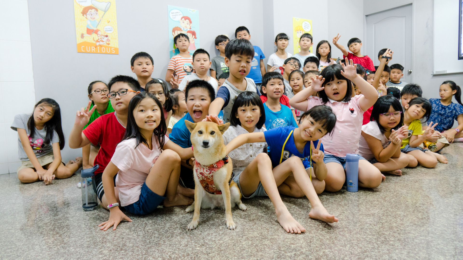
M 256 127 L 257 129 L 261 129 L 265 123 L 265 109 L 263 108 L 263 103 L 259 95 L 252 91 L 241 92 L 238 97 L 236 97 L 235 102 L 233 102 L 232 111 L 230 112 L 230 124 L 234 127 L 241 125 L 239 118 L 236 117 L 238 108 L 247 106 L 259 107 L 261 116 L 259 117 L 259 121 L 257 121 Z

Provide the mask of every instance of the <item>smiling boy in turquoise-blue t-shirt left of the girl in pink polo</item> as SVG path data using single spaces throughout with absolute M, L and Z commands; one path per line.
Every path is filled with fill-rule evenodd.
M 263 103 L 265 109 L 265 128 L 267 130 L 276 127 L 297 127 L 294 120 L 293 111 L 280 103 L 283 96 L 285 85 L 281 73 L 265 73 L 262 79 L 262 95 L 267 96 L 267 101 Z

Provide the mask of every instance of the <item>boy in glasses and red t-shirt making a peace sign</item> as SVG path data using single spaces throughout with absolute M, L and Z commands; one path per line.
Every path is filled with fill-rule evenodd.
M 109 81 L 108 88 L 108 97 L 111 99 L 111 106 L 113 106 L 114 112 L 101 115 L 82 131 L 83 127 L 87 125 L 90 115 L 92 115 L 96 108 L 94 106 L 93 109 L 90 109 L 91 102 L 88 102 L 87 108 L 77 111 L 74 127 L 72 127 L 69 134 L 70 148 L 81 148 L 90 143 L 101 146 L 94 161 L 94 165 L 100 165 L 95 171 L 94 184 L 97 189 L 98 198 L 105 208 L 107 201 L 104 195 L 101 176 L 106 165 L 111 161 L 116 146 L 124 137 L 129 102 L 132 97 L 140 93 L 140 83 L 132 77 L 119 75 Z

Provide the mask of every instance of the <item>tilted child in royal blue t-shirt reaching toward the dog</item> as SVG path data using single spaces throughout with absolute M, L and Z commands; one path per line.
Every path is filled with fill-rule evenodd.
M 327 175 L 319 139 L 331 133 L 335 123 L 336 116 L 330 108 L 316 106 L 301 115 L 299 127 L 277 127 L 265 132 L 240 134 L 228 143 L 227 150 L 231 152 L 247 143 L 267 142 L 279 193 L 296 198 L 305 195 L 312 205 L 310 218 L 338 222 L 338 218 L 326 211 L 317 195 L 325 189 L 323 180 Z

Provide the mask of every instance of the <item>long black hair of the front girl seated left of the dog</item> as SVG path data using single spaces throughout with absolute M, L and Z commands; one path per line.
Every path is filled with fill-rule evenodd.
M 167 131 L 166 127 L 166 119 L 164 118 L 164 113 L 162 111 L 162 105 L 161 102 L 156 98 L 155 95 L 143 91 L 141 93 L 138 93 L 132 99 L 130 100 L 129 103 L 129 113 L 127 114 L 127 127 L 125 128 L 125 134 L 124 138 L 122 140 L 128 140 L 131 138 L 136 138 L 137 139 L 137 145 L 135 145 L 134 149 L 137 148 L 138 145 L 141 143 L 145 143 L 148 145 L 146 142 L 146 139 L 142 136 L 140 131 L 138 130 L 138 125 L 137 122 L 135 121 L 135 117 L 133 116 L 133 111 L 137 109 L 138 104 L 144 100 L 145 98 L 151 98 L 156 102 L 156 105 L 159 107 L 160 112 L 161 112 L 161 122 L 159 122 L 159 125 L 153 130 L 154 135 L 157 137 L 157 141 L 159 143 L 159 149 L 163 149 L 164 146 L 164 136 Z

